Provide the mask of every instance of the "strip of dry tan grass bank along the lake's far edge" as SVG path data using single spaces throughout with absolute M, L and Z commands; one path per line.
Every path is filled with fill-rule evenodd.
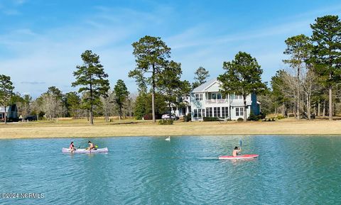
M 0 138 L 92 138 L 144 135 L 341 135 L 341 121 L 274 122 L 188 122 L 176 121 L 161 126 L 151 121 L 113 121 L 97 119 L 94 126 L 86 120 L 38 121 L 0 124 Z

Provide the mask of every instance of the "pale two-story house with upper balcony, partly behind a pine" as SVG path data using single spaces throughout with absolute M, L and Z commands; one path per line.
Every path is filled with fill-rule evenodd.
M 217 117 L 231 120 L 244 118 L 243 96 L 228 94 L 222 96 L 220 84 L 217 79 L 211 79 L 190 93 L 190 106 L 192 121 L 202 121 L 203 117 Z M 247 117 L 250 111 L 255 115 L 260 113 L 260 104 L 256 94 L 247 96 Z

